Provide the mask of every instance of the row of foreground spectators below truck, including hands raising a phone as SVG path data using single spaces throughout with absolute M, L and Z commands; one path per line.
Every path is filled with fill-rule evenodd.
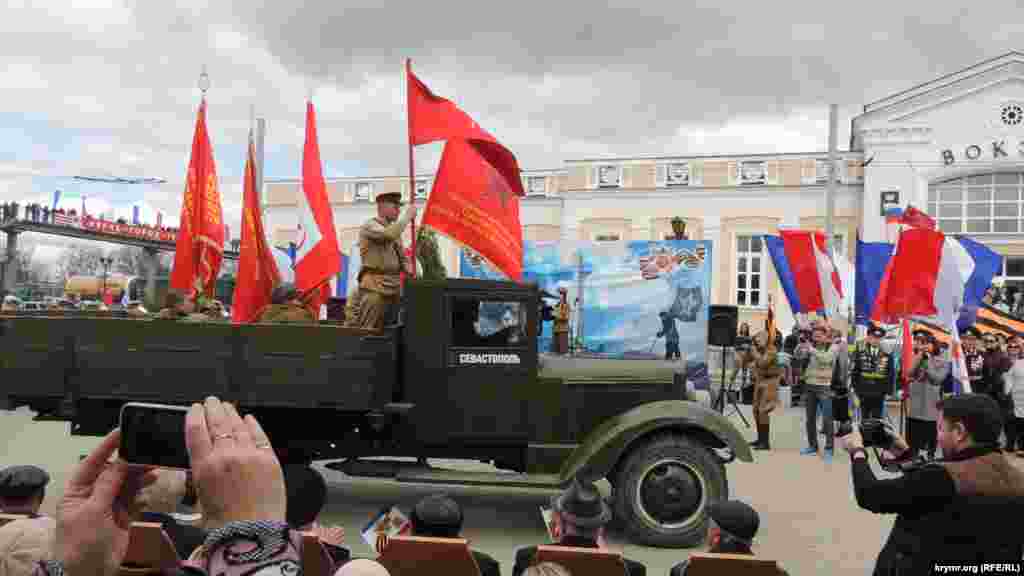
M 0 526 L 0 574 L 116 574 L 128 547 L 132 522 L 160 524 L 178 556 L 165 571 L 186 574 L 301 574 L 303 534 L 315 535 L 319 556 L 338 575 L 384 575 L 379 558 L 356 559 L 340 527 L 317 517 L 327 485 L 307 466 L 282 466 L 259 422 L 242 417 L 229 403 L 209 398 L 191 406 L 185 421 L 188 470 L 128 465 L 117 459 L 120 430 L 108 435 L 70 475 L 55 517 L 40 512 L 50 482 L 36 466 L 0 470 L 0 512 L 20 518 Z M 188 524 L 175 515 L 182 506 L 201 517 Z M 550 532 L 556 546 L 607 549 L 611 510 L 597 487 L 574 480 L 552 499 Z M 446 494 L 417 502 L 409 515 L 411 534 L 459 538 L 463 511 Z M 709 507 L 709 551 L 753 556 L 760 525 L 750 505 L 735 501 Z M 309 540 L 306 540 L 309 541 Z M 377 546 L 383 553 L 386 542 Z M 471 548 L 481 576 L 498 576 L 499 562 Z M 308 556 L 308 554 L 307 554 Z M 538 562 L 536 545 L 510 550 L 513 576 L 567 576 L 565 567 Z M 625 574 L 646 574 L 643 564 L 624 559 Z M 686 574 L 686 563 L 672 575 Z M 443 566 L 437 573 L 444 573 Z

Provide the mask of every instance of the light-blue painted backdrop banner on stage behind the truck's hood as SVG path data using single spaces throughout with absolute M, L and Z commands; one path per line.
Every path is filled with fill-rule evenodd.
M 567 289 L 573 305 L 571 334 L 583 354 L 664 359 L 674 347 L 667 346 L 666 335 L 671 337 L 675 327 L 680 360 L 691 366 L 705 363 L 710 241 L 525 242 L 523 251 L 524 282 L 537 283 L 552 296 L 559 287 Z M 467 249 L 460 255 L 460 276 L 505 278 Z M 544 323 L 540 338 L 541 349 L 550 349 L 550 322 Z

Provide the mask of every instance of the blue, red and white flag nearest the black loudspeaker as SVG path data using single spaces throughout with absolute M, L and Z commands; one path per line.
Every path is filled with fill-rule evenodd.
M 820 231 L 786 230 L 766 236 L 765 244 L 794 314 L 831 316 L 843 301 L 843 281 Z

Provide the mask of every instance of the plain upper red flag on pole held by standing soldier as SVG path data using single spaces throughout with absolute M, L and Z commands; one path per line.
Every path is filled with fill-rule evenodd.
M 409 71 L 409 132 L 412 146 L 420 146 L 437 140 L 466 139 L 489 142 L 484 158 L 505 177 L 508 187 L 516 196 L 525 196 L 519 164 L 515 156 L 502 146 L 486 130 L 481 128 L 468 114 L 459 110 L 452 100 L 434 95 L 426 84 Z M 478 150 L 480 150 L 478 148 Z M 437 180 L 431 194 L 437 192 Z M 458 239 L 456 239 L 458 240 Z

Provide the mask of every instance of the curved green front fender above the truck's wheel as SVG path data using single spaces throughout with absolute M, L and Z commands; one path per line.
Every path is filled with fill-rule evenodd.
M 754 454 L 746 441 L 725 416 L 680 400 L 651 402 L 608 418 L 595 427 L 569 455 L 559 472 L 562 484 L 577 476 L 589 480 L 606 477 L 638 439 L 659 429 L 696 429 L 710 434 L 744 462 Z

